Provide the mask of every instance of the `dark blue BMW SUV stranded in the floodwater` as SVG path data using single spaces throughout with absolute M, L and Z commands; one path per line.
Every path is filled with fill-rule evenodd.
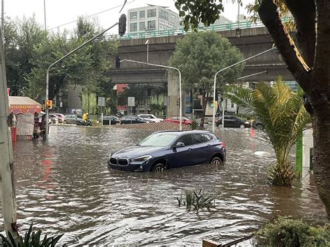
M 226 146 L 206 131 L 155 132 L 141 143 L 109 155 L 110 168 L 127 171 L 163 171 L 226 161 Z

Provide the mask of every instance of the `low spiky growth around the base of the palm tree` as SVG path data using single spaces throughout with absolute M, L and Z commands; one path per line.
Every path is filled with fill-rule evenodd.
M 286 161 L 282 164 L 272 164 L 268 168 L 267 180 L 275 186 L 291 186 L 294 179 L 299 177 L 292 162 Z

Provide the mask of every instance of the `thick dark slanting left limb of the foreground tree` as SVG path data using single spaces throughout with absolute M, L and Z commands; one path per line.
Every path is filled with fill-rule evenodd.
M 270 35 L 272 35 L 283 60 L 286 65 L 288 65 L 288 70 L 290 70 L 294 78 L 298 81 L 301 88 L 305 92 L 310 92 L 311 73 L 309 72 L 311 69 L 299 54 L 297 47 L 294 45 L 294 41 L 283 26 L 281 19 L 278 17 L 276 5 L 272 0 L 262 0 L 258 13 L 263 24 L 265 24 Z

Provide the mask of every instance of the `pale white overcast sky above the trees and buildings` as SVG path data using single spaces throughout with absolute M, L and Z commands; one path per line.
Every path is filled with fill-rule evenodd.
M 171 10 L 177 12 L 174 6 L 174 0 L 127 0 L 125 8 L 119 13 L 121 4 L 124 0 L 45 0 L 46 3 L 46 24 L 47 29 L 61 26 L 63 29 L 72 30 L 75 23 L 67 24 L 77 19 L 79 15 L 89 16 L 95 15 L 101 26 L 105 29 L 112 26 L 121 15 L 130 8 L 139 8 L 146 6 L 147 3 L 168 6 Z M 249 2 L 246 0 L 245 2 Z M 235 21 L 237 16 L 237 4 L 224 3 L 225 10 L 223 16 Z M 45 26 L 44 22 L 44 0 L 4 0 L 4 12 L 7 17 L 31 17 L 33 13 L 36 15 L 37 21 Z M 104 13 L 101 13 L 104 11 Z M 239 12 L 246 15 L 245 8 L 240 8 Z M 57 29 L 53 29 L 56 31 Z M 110 33 L 116 33 L 117 29 L 113 28 Z

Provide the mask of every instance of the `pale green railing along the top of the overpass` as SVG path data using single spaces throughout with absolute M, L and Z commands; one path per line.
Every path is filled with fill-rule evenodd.
M 292 21 L 292 17 L 283 17 L 281 18 L 282 22 L 290 22 Z M 226 24 L 217 24 L 217 25 L 211 25 L 211 26 L 198 26 L 198 31 L 227 31 L 227 30 L 236 30 L 236 29 L 251 29 L 255 27 L 264 26 L 262 22 L 250 22 L 250 21 L 244 21 L 244 22 L 231 22 Z M 191 33 L 191 30 L 188 31 L 188 33 Z M 143 32 L 137 32 L 137 33 L 126 33 L 123 35 L 123 37 L 120 37 L 119 35 L 105 35 L 106 39 L 113 40 L 132 40 L 136 38 L 156 38 L 156 37 L 164 37 L 164 36 L 173 36 L 173 35 L 184 35 L 186 34 L 186 31 L 182 27 L 178 29 L 166 29 L 166 30 L 147 30 Z

